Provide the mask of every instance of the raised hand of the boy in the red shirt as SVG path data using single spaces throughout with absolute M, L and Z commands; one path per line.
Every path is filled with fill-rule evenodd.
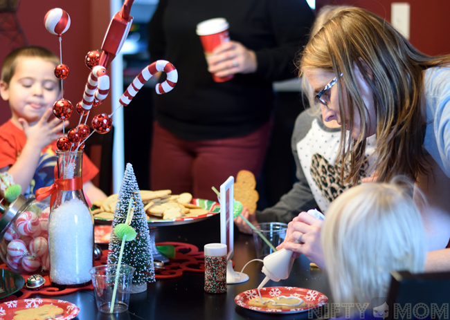
M 52 109 L 48 109 L 41 120 L 34 126 L 30 126 L 28 122 L 20 118 L 18 121 L 24 128 L 26 136 L 26 143 L 30 144 L 30 147 L 36 147 L 39 151 L 46 145 L 51 144 L 54 140 L 59 139 L 62 135 L 62 121 L 57 117 L 48 122 L 48 117 L 53 113 Z M 65 121 L 64 124 L 69 125 L 69 121 Z

